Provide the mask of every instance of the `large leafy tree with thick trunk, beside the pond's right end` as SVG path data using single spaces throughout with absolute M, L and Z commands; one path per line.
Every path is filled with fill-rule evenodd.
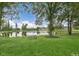
M 48 33 L 49 36 L 52 37 L 52 31 L 54 30 L 54 18 L 55 18 L 55 13 L 58 10 L 58 6 L 60 3 L 56 3 L 56 2 L 42 2 L 42 3 L 26 3 L 24 6 L 32 11 L 33 14 L 35 14 L 35 16 L 38 19 L 43 19 L 43 20 L 47 20 L 49 22 L 48 24 Z

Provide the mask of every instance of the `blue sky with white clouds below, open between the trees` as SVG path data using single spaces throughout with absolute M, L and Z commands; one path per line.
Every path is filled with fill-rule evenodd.
M 18 24 L 18 28 L 21 28 L 22 24 L 28 24 L 28 26 L 27 26 L 28 28 L 36 27 L 36 25 L 35 25 L 36 17 L 34 14 L 32 14 L 32 12 L 28 13 L 27 11 L 24 10 L 24 7 L 22 7 L 22 6 L 19 6 L 18 10 L 19 10 L 19 15 L 18 15 L 19 19 L 9 20 L 10 25 L 13 28 L 15 28 L 15 23 Z M 45 23 L 43 24 L 43 26 L 46 27 Z

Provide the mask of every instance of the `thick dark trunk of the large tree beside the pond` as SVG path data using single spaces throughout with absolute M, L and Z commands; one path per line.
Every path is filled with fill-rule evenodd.
M 52 9 L 52 5 L 54 6 L 54 8 Z M 49 36 L 52 37 L 53 36 L 53 33 L 52 31 L 54 30 L 54 27 L 53 27 L 53 13 L 55 11 L 55 7 L 56 7 L 56 3 L 52 4 L 51 3 L 48 3 L 48 21 L 49 21 L 49 25 L 48 25 L 48 30 L 49 30 Z

